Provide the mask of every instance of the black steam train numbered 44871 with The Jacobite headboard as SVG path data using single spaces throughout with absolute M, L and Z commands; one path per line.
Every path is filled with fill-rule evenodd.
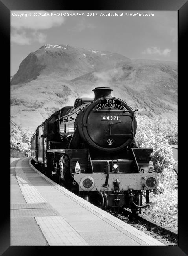
M 150 154 L 138 148 L 135 111 L 111 96 L 109 87 L 94 90 L 95 98 L 77 98 L 37 127 L 31 155 L 47 176 L 101 208 L 134 214 L 149 206 L 149 190 L 158 185 Z M 142 205 L 142 192 L 146 204 Z

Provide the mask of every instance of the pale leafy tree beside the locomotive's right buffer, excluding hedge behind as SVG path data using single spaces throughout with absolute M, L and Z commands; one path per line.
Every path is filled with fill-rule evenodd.
M 173 169 L 176 161 L 173 159 L 172 148 L 168 139 L 161 132 L 154 133 L 144 126 L 138 133 L 138 142 L 141 148 L 153 148 L 151 160 L 159 179 L 159 185 L 150 194 L 150 200 L 156 203 L 153 206 L 153 211 L 177 216 L 178 194 L 177 189 L 175 189 L 177 172 Z

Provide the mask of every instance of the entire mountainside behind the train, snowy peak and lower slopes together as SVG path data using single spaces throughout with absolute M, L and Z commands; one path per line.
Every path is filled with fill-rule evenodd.
M 44 45 L 30 53 L 11 79 L 11 118 L 35 128 L 53 112 L 94 87 L 114 89 L 138 114 L 177 122 L 177 63 L 131 60 L 121 54 L 69 45 Z

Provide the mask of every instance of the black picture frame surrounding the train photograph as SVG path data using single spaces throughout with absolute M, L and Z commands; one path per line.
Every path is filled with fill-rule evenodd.
M 10 11 L 11 10 L 159 10 L 159 11 L 178 11 L 178 71 L 179 71 L 179 244 L 175 247 L 10 247 L 9 245 L 9 172 L 7 167 L 9 163 L 8 140 L 9 140 L 9 35 L 10 35 Z M 131 255 L 143 254 L 150 255 L 174 255 L 181 256 L 188 254 L 188 231 L 186 229 L 186 181 L 188 172 L 187 163 L 187 138 L 186 138 L 186 87 L 187 87 L 187 41 L 186 34 L 188 30 L 188 2 L 187 0 L 103 0 L 86 4 L 76 2 L 72 4 L 63 0 L 1 0 L 0 2 L 0 31 L 2 35 L 1 58 L 2 80 L 1 86 L 2 101 L 1 113 L 3 114 L 1 131 L 1 226 L 0 226 L 0 255 L 38 255 L 44 253 L 69 253 L 81 255 L 97 255 L 98 253 L 117 253 L 124 254 L 129 251 Z M 1 80 L 1 81 L 2 81 Z M 3 100 L 4 99 L 4 100 Z M 184 114 L 184 115 L 181 115 Z M 182 124 L 183 122 L 183 124 Z M 184 130 L 182 129 L 184 128 Z M 4 185 L 4 186 L 2 186 Z M 54 251 L 55 250 L 55 251 Z M 102 252 L 103 250 L 103 252 Z

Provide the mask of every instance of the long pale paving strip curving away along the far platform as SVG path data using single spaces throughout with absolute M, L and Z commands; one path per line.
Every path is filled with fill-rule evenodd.
M 22 171 L 22 158 L 15 167 L 16 178 L 22 194 L 27 203 L 46 203 L 47 201 L 41 196 L 41 194 L 35 189 L 31 184 L 29 179 L 26 177 L 26 174 Z

